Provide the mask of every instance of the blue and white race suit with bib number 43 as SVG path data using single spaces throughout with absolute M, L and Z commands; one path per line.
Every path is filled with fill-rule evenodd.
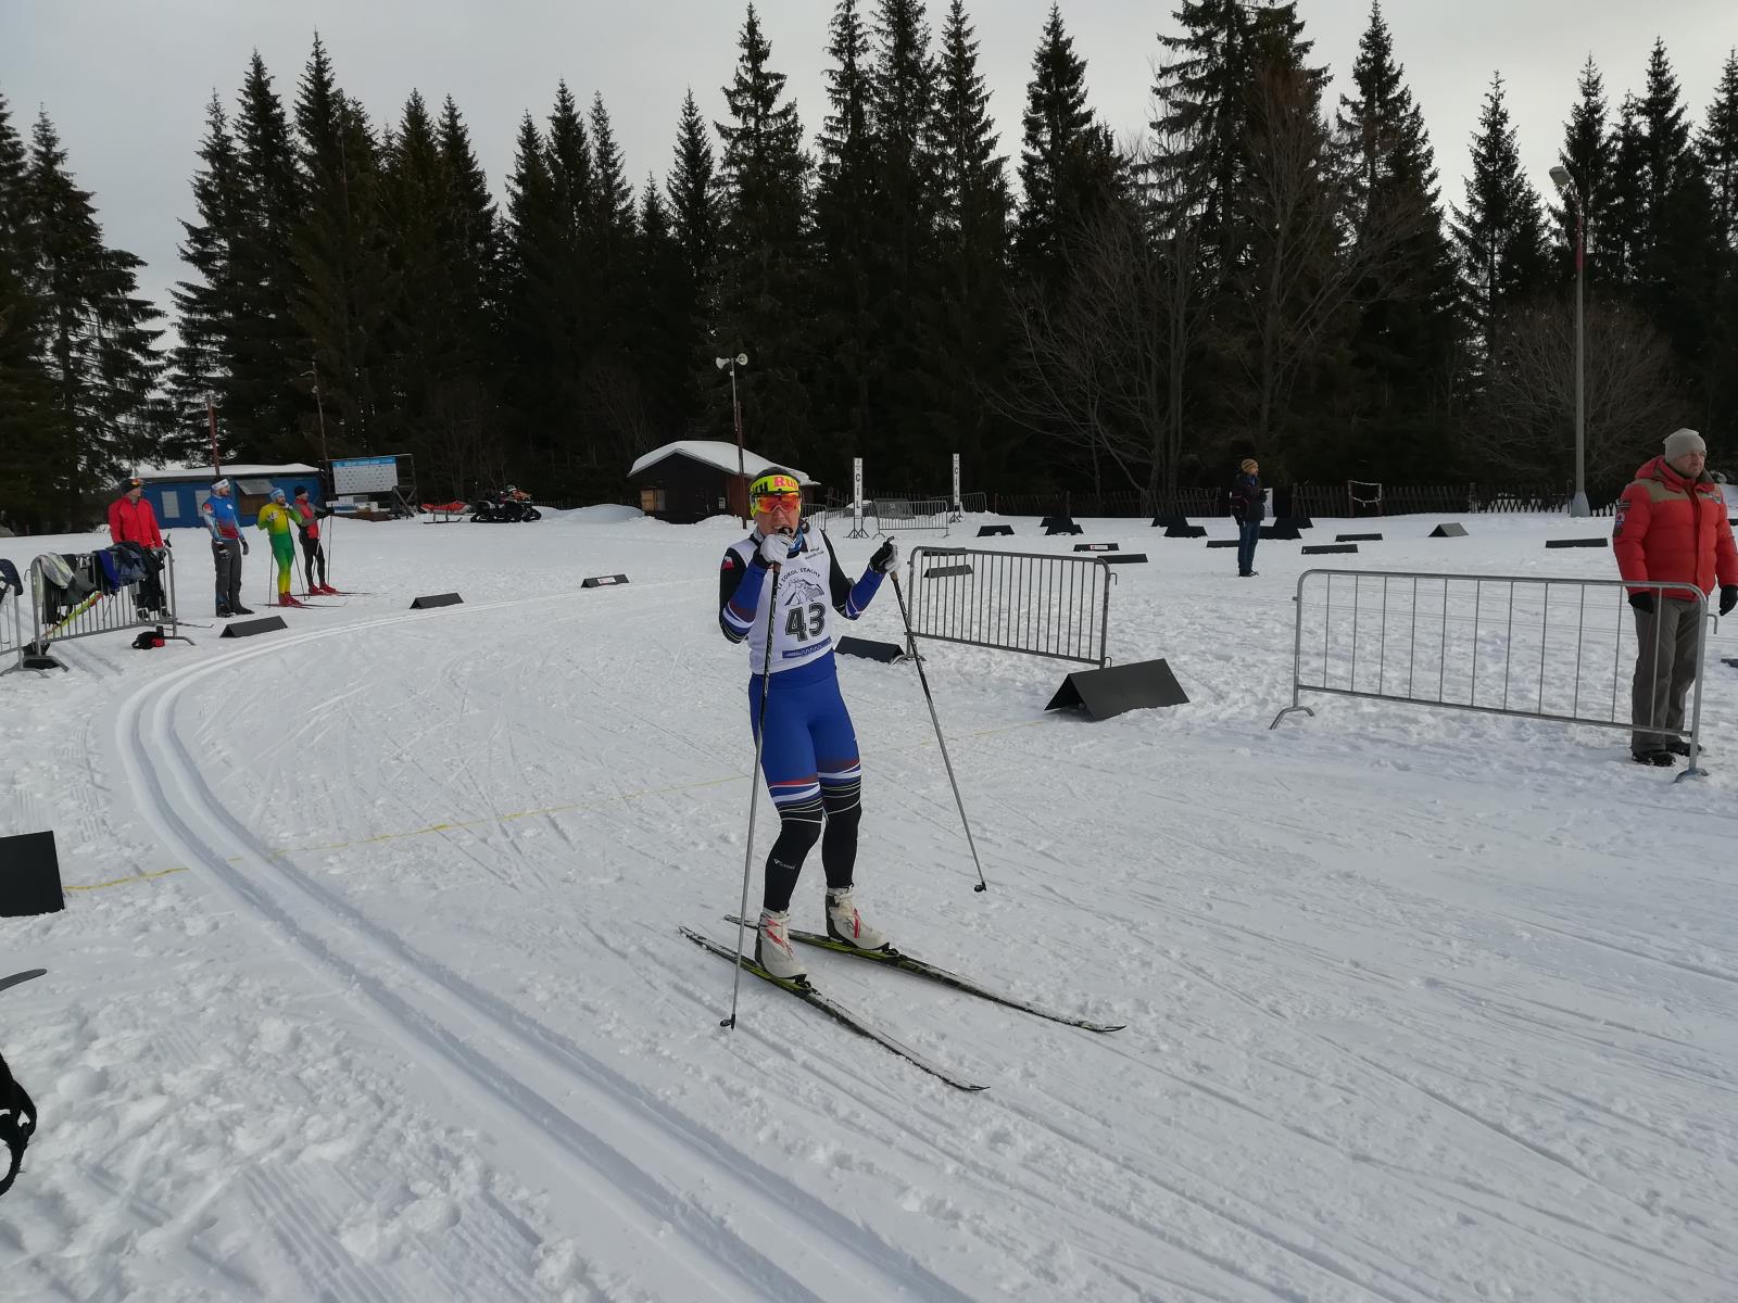
M 779 811 L 779 839 L 766 857 L 763 905 L 786 910 L 803 860 L 822 837 L 822 822 L 820 860 L 827 886 L 852 884 L 862 766 L 857 730 L 839 695 L 833 627 L 834 617 L 855 620 L 867 610 L 881 589 L 881 573 L 866 570 L 853 584 L 839 568 L 833 540 L 805 528 L 796 552 L 779 566 L 779 608 L 773 610 L 772 570 L 760 556 L 760 544 L 761 535 L 751 533 L 725 551 L 718 575 L 718 627 L 732 643 L 746 639 L 749 645 L 751 731 L 761 718 L 765 679 L 761 775 Z

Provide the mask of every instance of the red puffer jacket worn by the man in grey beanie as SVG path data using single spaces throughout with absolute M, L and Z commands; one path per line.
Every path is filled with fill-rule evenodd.
M 1714 592 L 1715 582 L 1738 584 L 1738 546 L 1721 486 L 1705 473 L 1686 480 L 1665 457 L 1642 466 L 1618 499 L 1611 551 L 1629 580 L 1681 579 L 1703 592 Z

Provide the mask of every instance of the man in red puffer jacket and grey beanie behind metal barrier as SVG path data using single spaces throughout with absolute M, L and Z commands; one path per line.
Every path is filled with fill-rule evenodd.
M 1674 764 L 1689 744 L 1672 733 L 1684 728 L 1684 697 L 1696 678 L 1702 603 L 1721 589 L 1721 615 L 1738 606 L 1738 547 L 1726 519 L 1721 486 L 1708 476 L 1708 445 L 1693 429 L 1667 436 L 1665 455 L 1635 473 L 1618 500 L 1611 551 L 1618 573 L 1630 582 L 1681 580 L 1672 589 L 1630 589 L 1635 608 L 1635 685 L 1630 697 L 1630 756 L 1637 764 Z

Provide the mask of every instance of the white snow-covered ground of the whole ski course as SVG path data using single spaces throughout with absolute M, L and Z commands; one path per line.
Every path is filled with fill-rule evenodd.
M 1168 657 L 1192 700 L 1046 716 L 1067 665 L 928 650 L 982 895 L 912 667 L 841 662 L 866 914 L 1128 1023 L 812 956 L 991 1088 L 963 1095 L 753 978 L 720 1029 L 730 968 L 676 928 L 735 931 L 735 528 L 624 516 L 341 523 L 334 579 L 365 592 L 289 632 L 0 679 L 0 829 L 54 829 L 70 888 L 0 919 L 0 975 L 49 968 L 0 994 L 42 1108 L 0 1294 L 1738 1300 L 1731 632 L 1702 782 L 1618 731 L 1387 702 L 1305 697 L 1269 731 L 1298 544 L 1237 580 L 1229 549 L 1086 521 L 1152 558 L 1118 572 L 1112 655 Z M 1611 575 L 1543 549 L 1606 521 L 1432 525 L 1357 521 L 1387 540 L 1321 559 Z M 839 542 L 852 568 L 872 546 Z M 466 605 L 408 610 L 447 589 Z M 852 632 L 897 631 L 883 592 Z M 815 860 L 796 914 L 819 928 Z

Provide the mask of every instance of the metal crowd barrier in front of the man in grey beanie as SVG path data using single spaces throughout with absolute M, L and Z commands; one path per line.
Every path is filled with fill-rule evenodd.
M 1630 589 L 1695 601 L 1696 686 L 1688 723 L 1632 721 L 1635 638 Z M 1707 596 L 1695 585 L 1623 579 L 1533 579 L 1423 572 L 1305 570 L 1298 575 L 1291 660 L 1293 711 L 1302 693 L 1441 705 L 1483 714 L 1641 728 L 1689 744 L 1702 773 L 1702 674 Z M 1663 629 L 1663 625 L 1662 625 Z

